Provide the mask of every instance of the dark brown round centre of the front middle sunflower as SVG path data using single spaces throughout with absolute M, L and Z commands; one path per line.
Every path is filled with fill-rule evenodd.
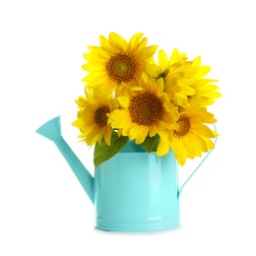
M 163 113 L 160 99 L 150 93 L 133 96 L 128 109 L 132 121 L 139 125 L 156 124 Z

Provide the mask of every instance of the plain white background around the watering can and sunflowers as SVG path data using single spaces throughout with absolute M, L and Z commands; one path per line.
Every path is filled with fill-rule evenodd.
M 0 2 L 0 255 L 256 255 L 254 1 Z M 154 233 L 94 228 L 94 207 L 55 146 L 34 134 L 62 115 L 77 142 L 74 99 L 83 94 L 83 53 L 98 35 L 129 39 L 189 59 L 201 55 L 223 97 L 210 110 L 220 138 L 180 199 L 181 227 Z M 199 161 L 180 169 L 181 181 Z

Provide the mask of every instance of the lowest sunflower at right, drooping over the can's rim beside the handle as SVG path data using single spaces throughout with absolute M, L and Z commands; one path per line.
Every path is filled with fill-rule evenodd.
M 215 148 L 211 138 L 218 134 L 211 130 L 206 123 L 215 123 L 214 115 L 207 112 L 205 107 L 190 107 L 180 112 L 177 120 L 179 128 L 174 130 L 170 147 L 180 165 L 187 158 L 201 157 L 202 153 Z

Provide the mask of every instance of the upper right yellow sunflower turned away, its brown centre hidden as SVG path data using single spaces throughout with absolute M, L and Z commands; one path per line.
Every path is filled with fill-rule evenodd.
M 159 52 L 160 74 L 158 79 L 164 79 L 164 91 L 170 100 L 179 106 L 188 106 L 188 102 L 198 98 L 202 106 L 214 103 L 215 98 L 221 97 L 219 89 L 213 82 L 215 79 L 204 78 L 211 70 L 210 66 L 201 66 L 201 57 L 188 61 L 185 53 L 179 54 L 175 48 L 170 58 L 163 50 Z M 198 102 L 199 102 L 198 100 Z

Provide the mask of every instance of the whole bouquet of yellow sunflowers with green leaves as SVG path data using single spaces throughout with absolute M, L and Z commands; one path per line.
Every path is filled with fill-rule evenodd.
M 100 46 L 88 46 L 85 95 L 73 122 L 88 146 L 95 146 L 95 165 L 117 154 L 129 140 L 147 152 L 170 150 L 180 165 L 215 148 L 218 136 L 208 124 L 217 122 L 208 106 L 221 97 L 209 66 L 200 56 L 188 60 L 174 48 L 168 57 L 158 45 L 147 46 L 143 33 L 129 41 L 110 32 Z

